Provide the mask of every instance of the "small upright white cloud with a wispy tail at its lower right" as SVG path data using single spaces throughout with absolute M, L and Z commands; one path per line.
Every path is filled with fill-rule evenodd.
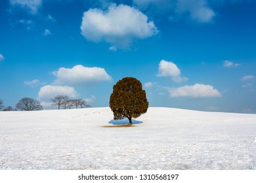
M 181 77 L 181 71 L 177 65 L 171 61 L 161 60 L 158 67 L 158 76 L 169 77 L 174 82 L 182 82 L 188 78 Z

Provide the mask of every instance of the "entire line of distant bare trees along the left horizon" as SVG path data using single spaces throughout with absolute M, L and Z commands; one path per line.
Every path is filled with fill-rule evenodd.
M 84 99 L 69 99 L 67 95 L 57 95 L 53 99 L 51 99 L 52 106 L 58 106 L 58 109 L 60 107 L 66 109 L 66 108 L 85 108 L 85 107 L 91 107 L 90 105 L 87 105 L 87 101 Z M 0 99 L 0 110 L 3 111 L 11 111 L 11 110 L 43 110 L 43 106 L 39 103 L 39 101 L 24 97 L 18 101 L 18 103 L 15 105 L 15 108 L 8 106 L 5 107 L 3 105 L 3 100 Z

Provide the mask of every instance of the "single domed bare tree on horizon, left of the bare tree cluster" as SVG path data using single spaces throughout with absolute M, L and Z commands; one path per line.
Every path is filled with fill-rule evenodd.
M 17 110 L 43 110 L 43 106 L 40 105 L 39 101 L 24 97 L 16 104 Z

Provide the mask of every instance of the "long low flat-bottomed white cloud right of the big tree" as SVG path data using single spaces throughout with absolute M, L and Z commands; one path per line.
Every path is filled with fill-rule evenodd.
M 211 85 L 194 84 L 193 86 L 182 86 L 181 88 L 169 88 L 170 97 L 207 98 L 221 97 L 221 93 Z

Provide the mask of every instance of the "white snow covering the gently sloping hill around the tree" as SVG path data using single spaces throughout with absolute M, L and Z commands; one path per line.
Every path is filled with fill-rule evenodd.
M 0 169 L 256 169 L 256 114 L 151 107 L 132 127 L 104 127 L 112 118 L 108 107 L 0 112 Z

